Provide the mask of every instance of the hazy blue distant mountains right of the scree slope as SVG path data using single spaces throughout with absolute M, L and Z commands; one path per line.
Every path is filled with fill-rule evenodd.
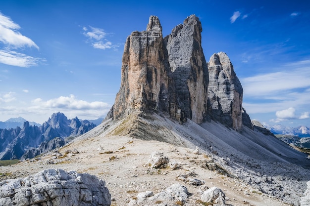
M 268 125 L 263 124 L 266 129 L 269 129 L 273 134 L 285 134 L 298 137 L 310 137 L 310 128 L 307 126 L 290 127 L 281 124 Z

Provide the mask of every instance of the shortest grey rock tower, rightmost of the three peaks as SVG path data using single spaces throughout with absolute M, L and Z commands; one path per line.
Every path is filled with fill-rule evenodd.
M 213 54 L 208 63 L 211 118 L 236 130 L 242 126 L 243 88 L 224 52 Z

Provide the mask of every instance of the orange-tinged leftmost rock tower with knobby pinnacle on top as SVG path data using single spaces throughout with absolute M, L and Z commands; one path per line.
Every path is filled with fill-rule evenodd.
M 114 119 L 132 110 L 160 110 L 174 113 L 175 95 L 169 76 L 167 52 L 163 46 L 159 19 L 151 16 L 147 31 L 132 32 L 124 48 L 121 88 L 116 95 Z

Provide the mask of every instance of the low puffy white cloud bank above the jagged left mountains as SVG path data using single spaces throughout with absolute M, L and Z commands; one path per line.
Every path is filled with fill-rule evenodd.
M 0 96 L 0 113 L 7 117 L 30 117 L 29 119 L 31 119 L 31 121 L 36 121 L 37 123 L 47 121 L 52 113 L 56 112 L 62 112 L 69 119 L 75 117 L 83 120 L 102 118 L 111 108 L 111 106 L 105 102 L 88 102 L 80 100 L 72 94 L 49 100 L 36 98 L 31 100 L 31 102 L 25 102 L 24 107 L 17 107 L 9 102 L 16 100 L 14 94 L 14 92 L 10 92 Z

